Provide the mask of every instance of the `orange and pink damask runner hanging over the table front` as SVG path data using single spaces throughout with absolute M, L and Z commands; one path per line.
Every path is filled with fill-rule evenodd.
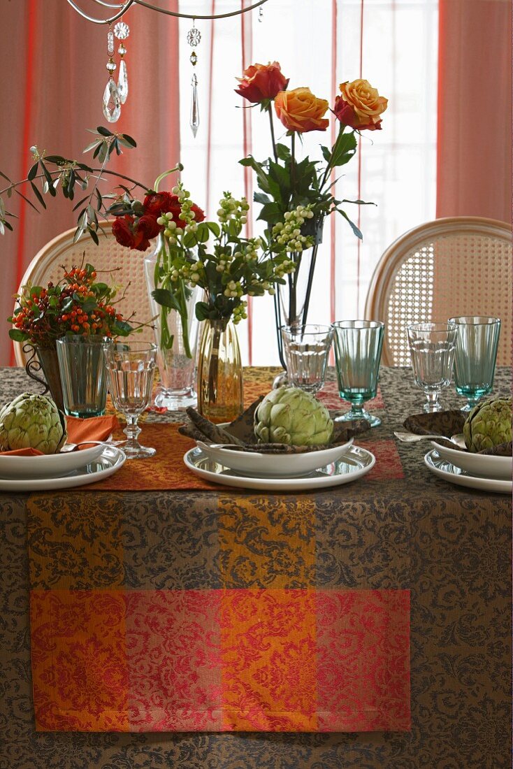
M 125 463 L 97 493 L 28 501 L 36 729 L 409 729 L 409 591 L 363 574 L 323 589 L 314 497 L 223 490 L 208 542 L 182 525 L 205 559 L 200 584 L 182 577 L 187 557 L 165 587 L 127 584 L 136 534 L 105 492 L 216 488 L 185 468 L 194 441 L 177 424 L 147 421 L 144 437 L 155 458 Z M 371 479 L 401 478 L 393 442 L 366 442 L 380 460 Z M 150 551 L 173 533 L 168 520 L 148 527 Z

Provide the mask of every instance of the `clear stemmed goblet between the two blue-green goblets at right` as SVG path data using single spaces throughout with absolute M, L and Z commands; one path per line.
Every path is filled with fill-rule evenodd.
M 407 331 L 415 384 L 428 399 L 424 411 L 441 411 L 438 396 L 451 382 L 458 329 L 455 323 L 412 323 Z

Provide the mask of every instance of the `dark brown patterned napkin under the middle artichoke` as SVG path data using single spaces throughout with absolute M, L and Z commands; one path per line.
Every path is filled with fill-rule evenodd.
M 258 454 L 305 454 L 308 451 L 322 451 L 346 443 L 350 438 L 368 431 L 368 421 L 358 419 L 351 422 L 335 422 L 333 437 L 330 444 L 320 446 L 288 446 L 284 443 L 258 443 L 253 431 L 255 411 L 263 396 L 254 401 L 251 406 L 226 428 L 220 428 L 198 414 L 195 408 L 186 409 L 188 424 L 182 424 L 178 432 L 204 443 L 230 444 L 234 451 L 253 451 Z M 330 411 L 331 417 L 335 412 Z

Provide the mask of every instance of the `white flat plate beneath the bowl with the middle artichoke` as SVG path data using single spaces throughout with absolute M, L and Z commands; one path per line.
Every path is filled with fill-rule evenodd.
M 184 454 L 185 466 L 205 481 L 235 486 L 236 488 L 257 488 L 265 491 L 306 491 L 350 483 L 368 473 L 375 465 L 374 454 L 359 446 L 348 448 L 338 461 L 318 468 L 301 478 L 255 478 L 244 475 L 219 464 L 203 453 L 201 448 L 192 448 Z

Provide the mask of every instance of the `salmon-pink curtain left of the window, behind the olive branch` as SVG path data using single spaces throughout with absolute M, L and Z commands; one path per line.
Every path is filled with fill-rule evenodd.
M 169 7 L 177 5 L 178 0 L 172 0 Z M 178 24 L 145 8 L 131 8 L 125 20 L 130 25 L 125 56 L 130 92 L 121 118 L 109 124 L 102 112 L 106 26 L 85 21 L 62 0 L 2 3 L 0 170 L 15 181 L 25 178 L 32 165 L 28 148 L 33 144 L 48 155 L 58 152 L 82 159 L 82 149 L 92 140 L 86 129 L 98 125 L 128 133 L 138 143 L 135 151 L 113 157 L 109 168 L 151 187 L 163 169 L 176 164 L 180 158 Z M 117 53 L 115 59 L 118 62 Z M 83 159 L 91 163 L 92 155 Z M 111 184 L 105 181 L 105 191 Z M 17 195 L 3 197 L 8 210 L 19 216 L 14 233 L 0 238 L 5 276 L 0 282 L 0 364 L 8 365 L 12 345 L 5 318 L 12 311 L 20 278 L 39 248 L 76 224 L 76 212 L 62 195 L 48 198 L 48 211 L 40 214 L 21 204 Z M 94 263 L 92 241 L 87 258 Z

